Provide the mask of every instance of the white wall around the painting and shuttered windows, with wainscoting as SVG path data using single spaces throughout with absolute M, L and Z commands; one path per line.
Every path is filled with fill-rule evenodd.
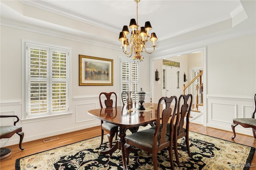
M 24 132 L 23 142 L 54 136 L 74 130 L 94 127 L 100 125 L 100 121 L 93 119 L 87 114 L 90 109 L 100 107 L 99 94 L 102 91 L 114 91 L 118 94 L 118 56 L 126 57 L 122 50 L 104 48 L 88 43 L 81 43 L 64 38 L 56 38 L 44 34 L 19 30 L 1 26 L 1 57 L 0 57 L 0 114 L 18 115 L 20 120 L 17 125 L 22 126 Z M 51 118 L 40 118 L 34 120 L 25 120 L 25 113 L 22 106 L 25 102 L 22 100 L 22 40 L 31 40 L 35 42 L 48 43 L 71 48 L 71 115 L 54 116 Z M 114 59 L 114 85 L 113 86 L 79 86 L 78 84 L 78 55 L 89 55 Z M 140 69 L 140 87 L 149 94 L 149 58 L 144 56 L 144 61 L 139 64 Z M 147 97 L 147 102 L 149 99 Z M 118 102 L 121 99 L 118 96 Z M 1 119 L 1 125 L 13 124 L 12 119 Z M 1 139 L 1 147 L 7 139 Z M 19 136 L 14 135 L 5 146 L 17 144 Z

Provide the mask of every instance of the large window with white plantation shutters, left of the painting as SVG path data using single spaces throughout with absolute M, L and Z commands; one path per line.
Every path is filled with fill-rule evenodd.
M 26 118 L 67 113 L 69 49 L 26 43 Z

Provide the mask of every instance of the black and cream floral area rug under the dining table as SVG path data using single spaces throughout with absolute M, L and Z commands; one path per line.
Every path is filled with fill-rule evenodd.
M 178 148 L 180 166 L 174 156 L 175 170 L 248 170 L 255 148 L 196 132 L 189 133 L 191 158 L 184 138 Z M 16 170 L 122 170 L 120 150 L 100 155 L 108 149 L 108 138 L 100 145 L 100 136 L 47 150 L 16 160 Z M 158 170 L 170 170 L 168 149 L 158 153 Z M 144 151 L 130 153 L 129 170 L 152 170 L 152 155 Z

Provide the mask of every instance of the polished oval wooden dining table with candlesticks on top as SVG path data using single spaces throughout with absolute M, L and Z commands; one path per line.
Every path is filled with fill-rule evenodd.
M 157 103 L 152 103 L 152 106 L 154 108 L 148 108 L 150 106 L 150 103 L 143 103 L 143 105 L 146 109 L 144 111 L 138 110 L 138 105 L 136 105 L 136 107 L 133 106 L 133 108 L 131 108 L 132 112 L 128 112 L 128 105 L 103 109 L 93 109 L 88 111 L 88 114 L 92 117 L 118 125 L 119 138 L 117 143 L 109 150 L 102 150 L 100 154 L 111 154 L 115 152 L 117 149 L 120 149 L 122 153 L 122 162 L 124 170 L 128 170 L 124 152 L 126 130 L 137 128 L 139 126 L 145 126 L 147 124 L 152 124 L 154 121 L 156 121 Z

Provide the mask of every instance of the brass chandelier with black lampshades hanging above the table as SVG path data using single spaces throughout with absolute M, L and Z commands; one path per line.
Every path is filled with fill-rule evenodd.
M 134 52 L 134 57 L 132 58 L 133 60 L 137 61 L 143 61 L 142 57 L 142 52 L 143 49 L 146 51 L 146 42 L 148 42 L 149 36 L 149 30 L 152 29 L 151 24 L 149 21 L 145 22 L 144 27 L 140 27 L 139 30 L 139 25 L 138 24 L 138 2 L 140 0 L 134 0 L 137 3 L 137 23 L 136 20 L 133 18 L 130 21 L 129 28 L 132 28 L 130 40 L 127 38 L 127 34 L 129 34 L 128 26 L 124 26 L 122 32 L 119 34 L 119 41 L 122 41 L 122 49 L 126 55 L 130 55 L 127 57 L 131 57 L 132 53 Z M 136 30 L 135 30 L 136 29 Z M 153 53 L 155 51 L 155 41 L 157 40 L 156 33 L 151 33 L 151 37 L 149 39 L 151 42 L 153 42 L 153 51 L 146 53 Z M 130 51 L 127 51 L 127 47 L 130 46 L 131 49 Z

